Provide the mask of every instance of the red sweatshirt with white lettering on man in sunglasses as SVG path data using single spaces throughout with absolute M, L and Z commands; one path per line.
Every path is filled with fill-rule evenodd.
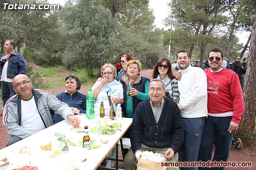
M 204 70 L 207 76 L 208 113 L 233 111 L 232 120 L 239 123 L 244 113 L 244 98 L 238 75 L 226 68 L 219 72 Z

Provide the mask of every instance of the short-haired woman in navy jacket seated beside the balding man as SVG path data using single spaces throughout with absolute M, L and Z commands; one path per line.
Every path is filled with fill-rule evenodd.
M 86 95 L 78 92 L 81 88 L 81 82 L 75 75 L 69 75 L 65 78 L 66 91 L 56 95 L 56 98 L 61 102 L 65 102 L 69 107 L 72 107 L 72 113 L 86 113 Z M 54 114 L 50 110 L 54 117 L 54 124 L 64 120 L 61 115 Z

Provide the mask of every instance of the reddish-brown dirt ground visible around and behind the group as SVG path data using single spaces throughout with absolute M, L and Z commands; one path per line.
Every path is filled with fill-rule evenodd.
M 176 74 L 176 71 L 173 71 L 174 75 Z M 151 70 L 142 70 L 141 76 L 145 76 L 152 79 L 152 72 Z M 93 84 L 87 84 L 83 85 L 81 87 L 80 93 L 86 94 L 90 87 L 92 87 Z M 60 92 L 65 91 L 64 86 L 54 86 L 52 89 L 49 90 L 52 94 L 56 95 Z M 2 106 L 2 100 L 0 100 L 0 106 Z M 1 107 L 2 108 L 2 107 Z M 2 123 L 2 117 L 0 117 L 0 149 L 3 149 L 9 140 L 9 135 L 6 132 L 6 128 L 4 127 Z M 212 152 L 214 153 L 214 151 Z M 121 154 L 119 154 L 119 157 L 121 158 Z M 255 150 L 250 149 L 250 147 L 243 146 L 242 150 L 236 149 L 233 145 L 230 149 L 230 155 L 228 162 L 252 162 L 252 167 L 227 167 L 226 170 L 255 170 L 256 169 L 256 152 Z M 122 168 L 121 164 L 120 167 Z

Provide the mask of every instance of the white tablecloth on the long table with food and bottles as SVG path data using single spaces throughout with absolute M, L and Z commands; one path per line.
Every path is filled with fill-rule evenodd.
M 79 117 L 80 118 L 80 117 Z M 96 127 L 97 121 L 100 120 L 102 125 L 105 124 L 103 118 L 96 117 L 92 120 L 82 118 L 81 127 L 88 125 L 90 127 Z M 107 121 L 106 123 L 111 124 L 117 122 Z M 97 149 L 86 150 L 82 147 L 69 146 L 69 152 L 60 154 L 54 158 L 49 157 L 52 151 L 42 151 L 41 145 L 47 145 L 49 142 L 52 143 L 52 149 L 54 150 L 60 141 L 57 141 L 57 137 L 54 136 L 55 132 L 66 135 L 66 139 L 70 139 L 72 142 L 78 145 L 78 139 L 83 139 L 84 133 L 70 131 L 72 127 L 70 123 L 61 121 L 47 129 L 44 129 L 22 141 L 19 141 L 9 147 L 0 150 L 0 154 L 11 158 L 10 162 L 13 162 L 11 166 L 4 168 L 4 170 L 11 170 L 17 166 L 24 166 L 32 164 L 38 166 L 39 170 L 69 170 L 71 166 L 80 167 L 80 170 L 94 170 L 96 169 L 102 160 L 108 155 L 110 150 L 115 146 L 118 140 L 124 135 L 127 129 L 132 124 L 132 118 L 122 118 L 121 131 L 118 131 L 114 135 L 102 135 L 102 139 L 108 140 L 108 143 L 100 143 L 100 147 Z M 96 139 L 94 133 L 89 133 L 90 139 Z M 31 150 L 31 155 L 26 153 L 20 153 L 20 149 L 28 147 Z M 82 162 L 87 158 L 86 162 Z M 2 170 L 2 169 L 0 169 Z

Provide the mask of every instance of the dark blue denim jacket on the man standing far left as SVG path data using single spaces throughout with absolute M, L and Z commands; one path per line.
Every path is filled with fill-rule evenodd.
M 3 57 L 8 53 L 4 54 L 0 58 L 0 78 L 2 76 L 2 71 L 6 60 L 3 60 Z M 8 67 L 7 67 L 7 78 L 14 78 L 18 74 L 25 74 L 26 66 L 24 62 L 24 57 L 18 53 L 16 50 L 9 57 Z

